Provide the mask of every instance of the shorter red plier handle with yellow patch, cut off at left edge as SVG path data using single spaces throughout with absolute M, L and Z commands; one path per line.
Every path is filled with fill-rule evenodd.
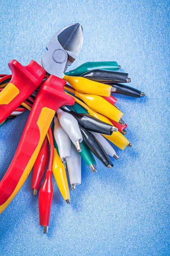
M 46 73 L 44 68 L 33 60 L 27 66 L 22 66 L 15 60 L 11 60 L 8 65 L 12 78 L 0 92 L 0 123 L 40 86 Z

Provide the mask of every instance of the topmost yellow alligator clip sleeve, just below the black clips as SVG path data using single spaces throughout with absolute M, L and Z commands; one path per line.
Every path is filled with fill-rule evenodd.
M 79 91 L 89 94 L 96 94 L 100 96 L 110 97 L 111 86 L 104 83 L 98 83 L 81 76 L 67 76 L 65 75 L 64 80 L 71 84 L 71 86 Z

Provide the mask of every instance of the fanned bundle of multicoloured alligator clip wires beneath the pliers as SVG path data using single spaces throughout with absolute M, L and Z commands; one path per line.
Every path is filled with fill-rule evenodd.
M 70 203 L 66 169 L 68 169 L 71 190 L 74 190 L 76 185 L 81 184 L 81 158 L 84 159 L 86 164 L 95 173 L 97 169 L 93 154 L 107 168 L 113 167 L 109 156 L 119 159 L 108 140 L 122 150 L 126 146 L 132 146 L 128 139 L 124 137 L 127 124 L 121 119 L 123 113 L 115 104 L 117 99 L 112 95 L 110 97 L 105 96 L 104 92 L 110 90 L 111 87 L 111 92 L 132 97 L 145 96 L 145 94 L 130 86 L 119 84 L 119 82 L 130 82 L 127 73 L 115 72 L 104 66 L 99 68 L 99 65 L 94 69 L 94 63 L 93 65 L 91 64 L 84 63 L 77 67 L 77 69 L 65 73 L 64 79 L 68 83 L 71 82 L 72 87 L 66 84 L 64 90 L 66 94 L 74 97 L 75 104 L 71 106 L 71 109 L 62 106 L 62 108 L 57 110 L 33 167 L 32 189 L 34 195 L 40 189 L 39 218 L 40 225 L 44 227 L 45 234 L 49 227 L 53 198 L 52 173 L 62 197 L 67 203 Z M 84 72 L 83 70 L 85 70 L 86 66 L 88 66 L 88 70 Z M 119 68 L 120 66 L 117 65 L 117 69 Z M 86 80 L 88 79 L 89 83 L 86 84 L 86 88 L 83 84 L 84 80 L 82 80 L 82 87 L 77 88 L 75 76 L 79 76 L 80 79 L 81 77 L 86 78 Z M 48 74 L 44 77 L 44 80 L 47 77 Z M 10 79 L 11 75 L 0 75 L 0 91 L 5 88 Z M 91 88 L 90 80 L 99 82 L 97 84 L 101 84 L 101 87 L 99 88 L 98 85 L 97 88 Z M 27 109 L 31 110 L 37 91 L 33 92 L 18 106 L 0 126 L 8 120 L 14 119 L 17 115 L 22 114 Z M 97 92 L 96 94 L 95 91 Z M 49 166 L 46 170 L 48 162 Z M 45 170 L 46 175 L 42 183 Z

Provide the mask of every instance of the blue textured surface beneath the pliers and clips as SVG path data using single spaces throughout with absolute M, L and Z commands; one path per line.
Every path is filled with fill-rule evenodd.
M 49 234 L 39 227 L 38 196 L 29 175 L 0 216 L 0 255 L 170 255 L 169 250 L 169 1 L 0 1 L 0 73 L 15 58 L 38 59 L 57 30 L 79 22 L 86 61 L 118 61 L 131 85 L 146 92 L 117 96 L 132 148 L 98 172 L 82 162 L 82 184 L 62 199 L 53 179 Z M 17 148 L 28 112 L 0 128 L 0 178 Z

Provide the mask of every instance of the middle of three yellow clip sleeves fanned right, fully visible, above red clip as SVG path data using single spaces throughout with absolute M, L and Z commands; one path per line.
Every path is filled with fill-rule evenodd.
M 89 108 L 92 108 L 93 110 L 106 117 L 109 117 L 116 122 L 119 122 L 121 117 L 124 115 L 120 110 L 106 101 L 106 99 L 98 95 L 84 94 L 76 91 L 75 96 L 82 99 Z

